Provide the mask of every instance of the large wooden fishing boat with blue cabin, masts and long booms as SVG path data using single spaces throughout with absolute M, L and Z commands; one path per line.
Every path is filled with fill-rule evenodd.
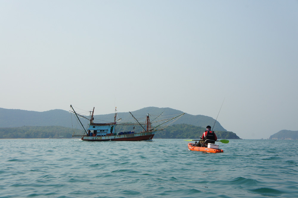
M 72 108 L 70 112 L 76 115 L 77 120 L 80 122 L 80 125 L 83 127 L 84 130 L 84 133 L 81 135 L 75 135 L 74 131 L 72 136 L 82 136 L 81 139 L 85 141 L 150 141 L 152 140 L 154 134 L 157 131 L 163 130 L 163 128 L 166 127 L 162 126 L 164 123 L 169 124 L 170 121 L 173 122 L 180 118 L 182 115 L 184 115 L 184 113 L 182 113 L 175 117 L 150 122 L 150 115 L 148 113 L 145 122 L 141 122 L 137 120 L 134 117 L 134 115 L 129 111 L 129 113 L 132 115 L 132 117 L 136 120 L 137 123 L 122 123 L 118 122 L 122 119 L 116 120 L 117 111 L 115 109 L 114 122 L 94 123 L 94 108 L 93 111 L 89 111 L 90 116 L 86 117 L 82 114 L 77 113 L 72 105 L 70 107 Z M 84 127 L 80 118 L 89 120 L 89 123 L 86 128 Z M 135 127 L 133 127 L 133 130 L 131 131 L 117 132 L 117 125 L 140 125 L 143 130 L 140 132 L 135 132 Z

